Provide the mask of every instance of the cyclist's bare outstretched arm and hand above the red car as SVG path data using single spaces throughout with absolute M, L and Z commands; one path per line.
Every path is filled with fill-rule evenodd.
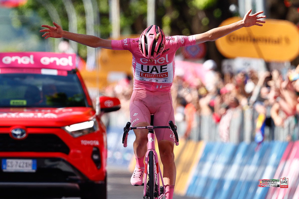
M 47 29 L 40 30 L 39 32 L 45 32 L 45 34 L 42 35 L 42 37 L 45 37 L 45 39 L 52 37 L 52 38 L 65 38 L 72 41 L 76 41 L 80 44 L 90 46 L 93 48 L 101 47 L 101 48 L 107 48 L 112 49 L 111 47 L 111 40 L 102 39 L 96 36 L 92 35 L 84 35 L 84 34 L 78 34 L 78 33 L 72 33 L 65 30 L 62 30 L 61 26 L 57 23 L 53 22 L 53 26 L 49 25 L 42 25 L 42 27 L 45 27 Z

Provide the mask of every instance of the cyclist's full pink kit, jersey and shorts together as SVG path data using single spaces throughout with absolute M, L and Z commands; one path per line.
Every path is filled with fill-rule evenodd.
M 129 50 L 132 55 L 133 93 L 130 101 L 130 121 L 134 127 L 140 122 L 150 123 L 150 114 L 154 114 L 154 124 L 165 126 L 174 122 L 174 111 L 170 88 L 175 72 L 174 56 L 183 46 L 195 44 L 195 36 L 166 37 L 165 48 L 160 57 L 150 61 L 144 57 L 138 44 L 139 38 L 112 40 L 113 50 Z M 170 129 L 155 129 L 157 141 L 174 142 Z

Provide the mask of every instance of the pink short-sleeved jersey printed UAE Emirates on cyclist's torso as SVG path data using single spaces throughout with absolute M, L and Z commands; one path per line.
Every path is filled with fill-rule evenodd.
M 132 55 L 134 85 L 133 90 L 169 92 L 175 72 L 175 53 L 183 46 L 195 44 L 195 36 L 168 36 L 160 57 L 150 61 L 138 46 L 139 38 L 112 40 L 113 50 L 129 50 Z

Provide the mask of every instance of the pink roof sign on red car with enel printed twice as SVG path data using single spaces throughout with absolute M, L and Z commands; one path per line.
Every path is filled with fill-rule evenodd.
M 0 53 L 0 68 L 7 67 L 72 70 L 76 68 L 76 54 L 49 52 Z

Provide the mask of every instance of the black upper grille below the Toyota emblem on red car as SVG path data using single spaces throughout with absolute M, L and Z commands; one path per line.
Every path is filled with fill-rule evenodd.
M 61 152 L 68 154 L 68 146 L 54 134 L 29 134 L 24 140 L 15 140 L 9 134 L 0 134 L 0 152 Z

